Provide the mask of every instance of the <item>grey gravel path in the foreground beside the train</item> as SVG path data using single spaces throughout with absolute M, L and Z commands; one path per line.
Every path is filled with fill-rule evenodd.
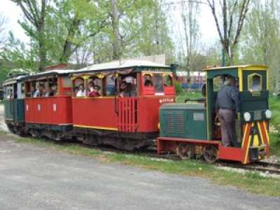
M 279 197 L 252 195 L 207 179 L 108 164 L 18 144 L 9 136 L 0 139 L 1 210 L 279 207 Z

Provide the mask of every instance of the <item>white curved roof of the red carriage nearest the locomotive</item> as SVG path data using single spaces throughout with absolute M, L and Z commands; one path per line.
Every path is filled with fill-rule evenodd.
M 159 64 L 156 62 L 151 62 L 148 60 L 141 60 L 141 59 L 127 59 L 127 60 L 116 60 L 113 62 L 106 62 L 103 64 L 94 64 L 92 66 L 87 66 L 83 69 L 79 69 L 75 71 L 75 73 L 81 73 L 86 71 L 106 71 L 106 70 L 121 70 L 121 69 L 128 69 L 134 67 L 154 67 L 154 68 L 170 68 L 165 64 Z

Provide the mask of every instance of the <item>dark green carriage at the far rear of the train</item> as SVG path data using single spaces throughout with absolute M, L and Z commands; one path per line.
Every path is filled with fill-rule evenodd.
M 23 134 L 25 128 L 25 85 L 22 82 L 25 77 L 26 75 L 14 76 L 3 83 L 5 123 L 10 132 L 15 134 Z

